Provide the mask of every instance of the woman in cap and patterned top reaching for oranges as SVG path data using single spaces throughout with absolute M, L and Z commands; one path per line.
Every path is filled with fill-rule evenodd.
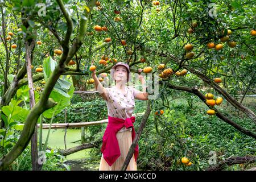
M 132 116 L 135 99 L 148 100 L 146 87 L 143 88 L 143 92 L 140 92 L 132 86 L 126 86 L 127 82 L 130 81 L 130 73 L 129 65 L 125 63 L 115 64 L 110 72 L 112 79 L 115 81 L 112 88 L 104 88 L 95 71 L 92 73 L 96 89 L 108 106 L 109 122 L 102 139 L 100 171 L 121 170 L 135 137 L 133 126 L 135 117 Z M 139 75 L 139 80 L 143 85 L 146 84 L 142 75 Z M 137 170 L 137 155 L 138 145 L 127 170 Z

